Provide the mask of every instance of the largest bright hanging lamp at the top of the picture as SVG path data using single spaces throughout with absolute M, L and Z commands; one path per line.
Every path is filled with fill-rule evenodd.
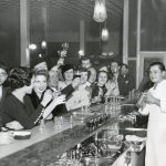
M 95 0 L 93 20 L 104 22 L 107 18 L 105 0 Z

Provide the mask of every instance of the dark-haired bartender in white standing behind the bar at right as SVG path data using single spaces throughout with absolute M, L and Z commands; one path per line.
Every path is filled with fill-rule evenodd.
M 149 79 L 154 86 L 148 90 L 145 106 L 139 108 L 144 115 L 149 115 L 145 166 L 166 165 L 166 80 L 165 66 L 154 62 L 149 66 Z

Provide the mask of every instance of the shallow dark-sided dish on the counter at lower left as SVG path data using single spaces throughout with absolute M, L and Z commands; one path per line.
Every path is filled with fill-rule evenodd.
M 31 137 L 31 132 L 28 131 L 17 131 L 12 134 L 14 139 L 29 139 Z

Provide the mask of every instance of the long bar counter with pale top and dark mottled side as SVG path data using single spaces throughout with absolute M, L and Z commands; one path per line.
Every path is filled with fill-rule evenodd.
M 102 105 L 91 106 L 91 112 L 101 110 Z M 69 118 L 64 118 L 60 126 L 55 126 L 53 122 L 44 124 L 42 129 L 35 126 L 30 129 L 30 139 L 15 139 L 9 145 L 0 146 L 0 166 L 46 166 L 58 160 L 68 149 L 115 121 L 111 118 L 93 131 L 81 121 L 72 121 L 71 124 Z

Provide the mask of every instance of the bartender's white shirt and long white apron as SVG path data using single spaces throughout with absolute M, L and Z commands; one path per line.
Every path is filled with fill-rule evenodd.
M 160 106 L 146 104 L 148 112 L 145 166 L 166 166 L 166 80 L 149 90 Z

